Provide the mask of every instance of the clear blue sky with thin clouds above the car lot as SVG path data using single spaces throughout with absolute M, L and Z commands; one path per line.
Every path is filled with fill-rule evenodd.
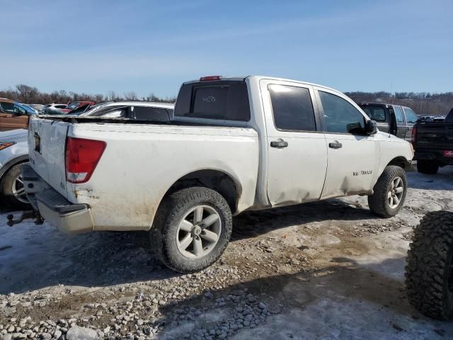
M 340 91 L 453 91 L 453 1 L 0 0 L 0 88 L 178 93 L 264 74 Z

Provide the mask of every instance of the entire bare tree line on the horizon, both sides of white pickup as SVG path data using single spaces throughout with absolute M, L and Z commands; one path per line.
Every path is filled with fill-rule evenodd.
M 430 92 L 345 92 L 356 103 L 393 103 L 408 106 L 418 114 L 423 115 L 445 115 L 453 107 L 453 92 L 435 94 Z M 37 87 L 24 84 L 16 85 L 15 89 L 0 91 L 0 98 L 8 98 L 19 103 L 28 104 L 48 104 L 48 103 L 68 103 L 69 101 L 103 101 L 114 100 L 140 100 L 140 101 L 160 101 L 164 103 L 174 103 L 176 97 L 161 98 L 149 94 L 146 97 L 139 97 L 134 91 L 118 94 L 115 91 L 108 91 L 107 94 L 77 94 L 71 91 L 53 91 L 50 93 L 41 92 Z

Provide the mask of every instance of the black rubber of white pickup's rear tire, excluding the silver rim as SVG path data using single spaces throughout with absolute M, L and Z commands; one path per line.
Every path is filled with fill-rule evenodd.
M 190 259 L 178 249 L 178 225 L 185 213 L 197 205 L 213 208 L 220 217 L 222 228 L 214 248 L 199 259 Z M 204 187 L 185 188 L 171 193 L 159 206 L 150 231 L 151 246 L 168 268 L 180 273 L 193 273 L 207 268 L 223 254 L 231 237 L 231 209 L 217 191 Z

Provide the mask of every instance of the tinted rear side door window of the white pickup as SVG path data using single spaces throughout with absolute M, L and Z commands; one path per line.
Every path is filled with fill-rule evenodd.
M 270 84 L 268 90 L 275 128 L 278 130 L 316 131 L 309 89 Z

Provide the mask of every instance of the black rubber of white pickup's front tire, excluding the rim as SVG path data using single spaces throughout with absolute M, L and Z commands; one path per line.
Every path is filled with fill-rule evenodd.
M 396 177 L 399 177 L 403 180 L 403 195 L 401 196 L 401 200 L 398 206 L 396 208 L 391 208 L 387 194 L 389 193 L 392 181 Z M 376 184 L 374 184 L 373 191 L 374 193 L 368 196 L 369 210 L 371 210 L 375 215 L 381 217 L 395 216 L 403 207 L 404 200 L 406 200 L 406 193 L 408 191 L 406 171 L 404 171 L 404 169 L 399 166 L 386 166 Z

